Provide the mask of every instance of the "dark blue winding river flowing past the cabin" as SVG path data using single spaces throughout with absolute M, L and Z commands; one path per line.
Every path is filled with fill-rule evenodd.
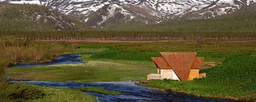
M 86 53 L 88 54 L 88 53 Z M 20 64 L 11 67 L 29 67 L 29 66 L 43 66 L 43 65 L 57 65 L 67 63 L 83 63 L 77 59 L 80 54 L 62 55 L 56 61 L 47 63 L 28 63 Z M 11 68 L 9 67 L 9 68 Z M 84 91 L 87 94 L 92 94 L 100 98 L 103 102 L 231 102 L 229 100 L 219 100 L 191 96 L 187 94 L 180 94 L 169 92 L 162 89 L 150 88 L 146 86 L 138 86 L 132 81 L 122 82 L 47 82 L 47 81 L 12 81 L 22 82 L 26 84 L 35 84 L 39 86 L 55 86 L 57 88 L 79 88 L 81 86 L 99 86 L 108 90 L 116 90 L 122 92 L 121 95 L 108 95 L 98 92 Z

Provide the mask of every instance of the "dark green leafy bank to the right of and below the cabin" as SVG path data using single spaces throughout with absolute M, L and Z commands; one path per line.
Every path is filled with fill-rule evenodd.
M 206 78 L 193 81 L 152 80 L 144 86 L 171 89 L 196 96 L 231 100 L 256 99 L 256 54 L 238 53 L 225 59 L 222 65 L 204 69 Z

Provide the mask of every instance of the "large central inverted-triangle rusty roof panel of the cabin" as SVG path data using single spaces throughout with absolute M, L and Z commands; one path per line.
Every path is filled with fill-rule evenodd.
M 160 52 L 160 54 L 180 80 L 187 80 L 196 52 Z

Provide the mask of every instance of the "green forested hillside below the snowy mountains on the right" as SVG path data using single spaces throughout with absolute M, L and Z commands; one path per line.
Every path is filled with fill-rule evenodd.
M 104 30 L 116 31 L 196 31 L 196 32 L 256 32 L 256 4 L 210 19 L 188 19 L 191 15 L 174 18 L 160 24 L 120 26 L 113 24 Z

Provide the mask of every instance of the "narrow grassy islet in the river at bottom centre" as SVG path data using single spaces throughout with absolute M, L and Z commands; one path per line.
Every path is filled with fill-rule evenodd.
M 98 86 L 91 86 L 91 87 L 88 87 L 88 88 L 87 87 L 80 87 L 79 90 L 92 91 L 92 92 L 100 92 L 100 93 L 103 93 L 103 94 L 112 94 L 112 95 L 120 95 L 120 94 L 122 94 L 119 91 L 110 91 L 108 89 L 101 88 L 101 87 L 98 87 Z

